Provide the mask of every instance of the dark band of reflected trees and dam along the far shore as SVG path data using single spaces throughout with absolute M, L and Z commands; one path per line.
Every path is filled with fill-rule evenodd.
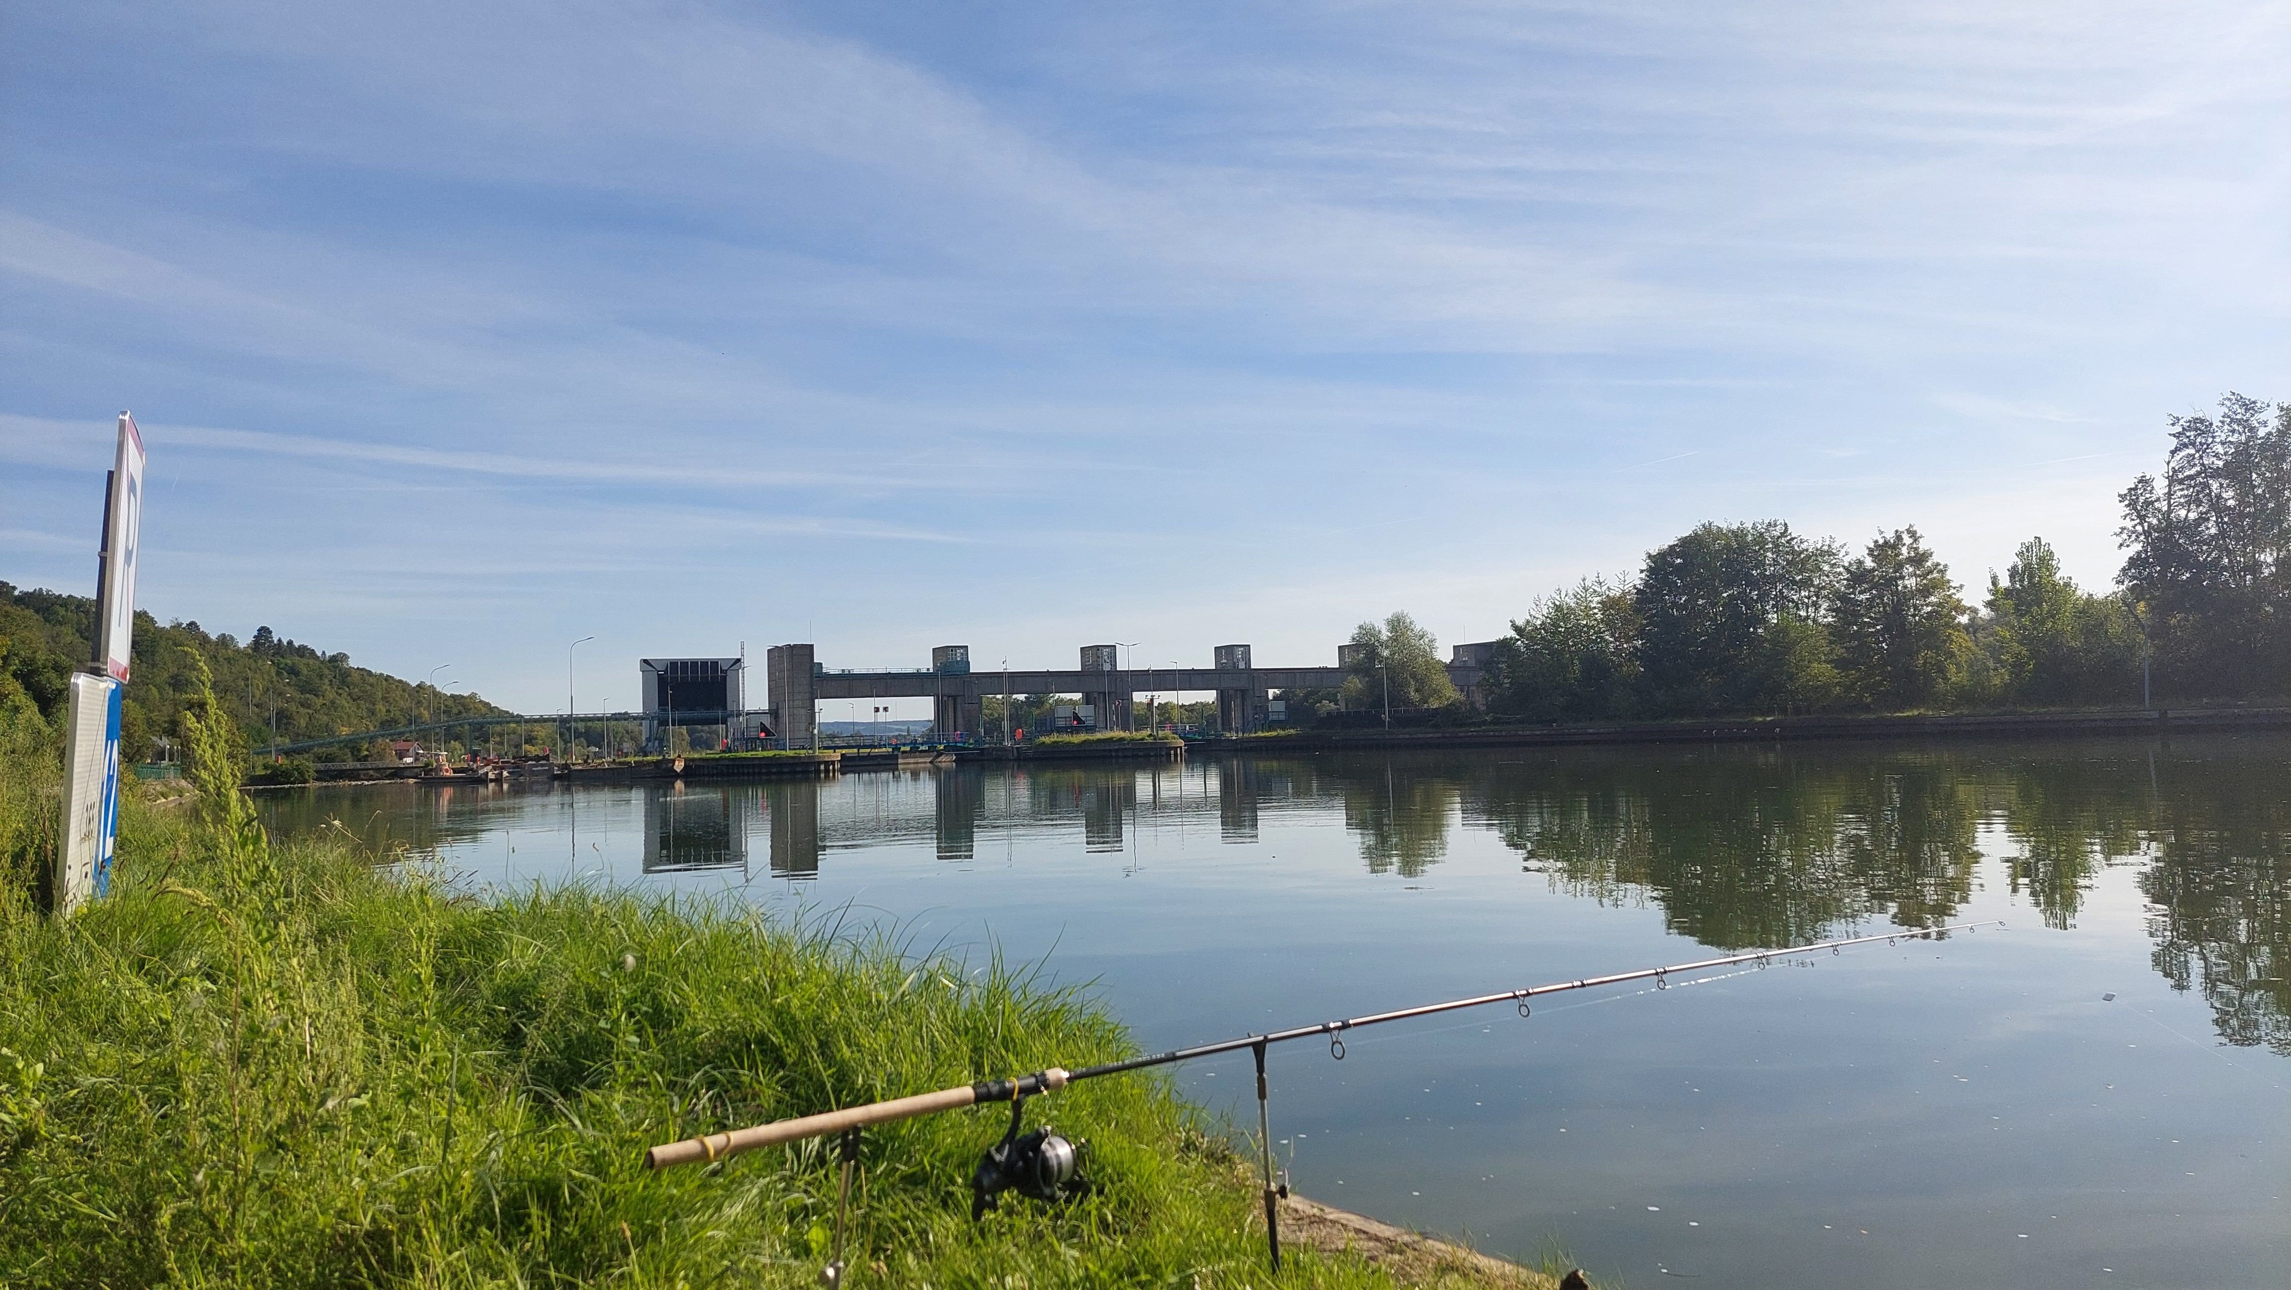
M 2138 864 L 2154 969 L 2206 999 L 2227 1043 L 2291 1054 L 2286 763 L 2291 742 L 2273 738 L 1551 749 L 580 790 L 334 788 L 270 793 L 259 809 L 277 832 L 348 829 L 383 855 L 463 866 L 493 855 L 520 880 L 543 864 L 536 855 L 568 855 L 568 841 L 591 871 L 621 839 L 623 864 L 644 875 L 747 878 L 763 850 L 770 875 L 809 882 L 822 864 L 884 848 L 971 862 L 981 834 L 997 836 L 997 852 L 1024 836 L 1068 855 L 1210 845 L 1265 848 L 1288 864 L 1285 845 L 1267 845 L 1285 827 L 1340 825 L 1365 882 L 1416 880 L 1491 841 L 1551 891 L 1645 905 L 1730 951 L 1872 921 L 1952 921 L 1984 857 L 2046 926 L 2073 928 L 2096 875 Z M 641 845 L 628 848 L 632 816 Z

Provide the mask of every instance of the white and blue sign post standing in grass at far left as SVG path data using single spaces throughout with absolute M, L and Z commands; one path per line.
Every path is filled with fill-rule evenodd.
M 71 914 L 110 891 L 119 834 L 119 699 L 135 644 L 135 548 L 142 541 L 142 435 L 119 412 L 119 449 L 103 500 L 96 561 L 96 664 L 71 678 L 64 719 L 64 832 L 55 848 L 55 912 Z

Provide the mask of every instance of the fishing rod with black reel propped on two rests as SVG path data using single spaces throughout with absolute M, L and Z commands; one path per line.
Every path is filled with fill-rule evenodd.
M 696 1139 L 662 1143 L 644 1153 L 644 1164 L 651 1169 L 667 1169 L 671 1164 L 699 1164 L 719 1162 L 745 1150 L 756 1150 L 765 1146 L 779 1146 L 790 1141 L 816 1139 L 825 1134 L 843 1134 L 843 1182 L 841 1196 L 836 1201 L 836 1260 L 827 1265 L 820 1279 L 827 1285 L 836 1285 L 843 1276 L 843 1201 L 850 1196 L 852 1164 L 859 1159 L 859 1130 L 868 1125 L 889 1125 L 893 1120 L 912 1120 L 914 1116 L 930 1116 L 937 1111 L 955 1111 L 962 1107 L 978 1107 L 985 1102 L 1010 1102 L 1010 1127 L 1003 1132 L 1001 1141 L 994 1143 L 987 1155 L 978 1162 L 971 1175 L 971 1219 L 978 1219 L 994 1208 L 1001 1191 L 1017 1191 L 1019 1196 L 1031 1196 L 1036 1201 L 1063 1201 L 1088 1187 L 1086 1180 L 1074 1178 L 1079 1164 L 1079 1150 L 1072 1141 L 1054 1134 L 1052 1130 L 1036 1130 L 1019 1136 L 1019 1116 L 1024 1111 L 1026 1098 L 1040 1093 L 1056 1093 L 1068 1084 L 1081 1079 L 1097 1079 L 1102 1075 L 1123 1075 L 1129 1070 L 1146 1070 L 1150 1065 L 1173 1065 L 1180 1061 L 1194 1061 L 1200 1056 L 1217 1056 L 1223 1052 L 1251 1049 L 1258 1065 L 1258 1155 L 1265 1166 L 1265 1237 L 1272 1246 L 1274 1272 L 1281 1272 L 1281 1217 L 1278 1203 L 1288 1196 L 1288 1182 L 1274 1180 L 1274 1143 L 1272 1143 L 1272 1114 L 1267 1107 L 1267 1084 L 1265 1084 L 1265 1049 L 1276 1043 L 1290 1043 L 1301 1038 L 1329 1040 L 1329 1056 L 1345 1059 L 1345 1031 L 1356 1031 L 1361 1027 L 1381 1027 L 1384 1022 L 1404 1022 L 1409 1017 L 1432 1017 L 1439 1013 L 1457 1013 L 1464 1008 L 1485 1008 L 1489 1004 L 1517 1004 L 1519 1015 L 1528 1015 L 1528 1001 L 1544 994 L 1562 994 L 1569 990 L 1595 990 L 1599 985 L 1622 985 L 1624 981 L 1654 981 L 1656 990 L 1668 990 L 1670 976 L 1679 972 L 1705 972 L 1711 967 L 1732 967 L 1737 962 L 1755 962 L 1766 967 L 1778 958 L 1798 958 L 1808 953 L 1831 951 L 1833 955 L 1858 946 L 1858 944 L 1895 944 L 1902 939 L 1934 939 L 1945 933 L 1975 933 L 1986 926 L 2002 928 L 2002 919 L 1984 919 L 1977 923 L 1957 923 L 1947 928 L 1913 928 L 1902 933 L 1879 933 L 1872 937 L 1847 937 L 1833 942 L 1812 942 L 1789 949 L 1755 949 L 1748 953 L 1730 953 L 1723 958 L 1700 958 L 1695 962 L 1672 962 L 1668 967 L 1640 967 L 1636 972 L 1611 972 L 1606 976 L 1581 976 L 1576 981 L 1553 981 L 1551 985 L 1521 985 L 1517 990 L 1498 990 L 1494 994 L 1473 994 L 1469 999 L 1448 999 L 1443 1004 L 1418 1004 L 1414 1008 L 1393 1008 L 1391 1013 L 1368 1013 L 1365 1017 L 1343 1017 L 1333 1022 L 1320 1022 L 1313 1027 L 1292 1027 L 1285 1031 L 1267 1031 L 1255 1036 L 1239 1036 L 1230 1040 L 1203 1043 L 1194 1047 L 1173 1047 L 1168 1052 L 1157 1052 L 1148 1056 L 1132 1056 L 1125 1061 L 1107 1061 L 1100 1065 L 1084 1065 L 1079 1070 L 1065 1070 L 1052 1065 L 1047 1070 L 1036 1070 L 1033 1075 L 1017 1075 L 1013 1079 L 981 1079 L 978 1084 L 958 1084 L 953 1088 L 939 1088 L 937 1093 L 914 1093 L 910 1098 L 891 1098 L 889 1102 L 868 1102 L 864 1107 L 845 1107 L 841 1111 L 820 1111 L 816 1116 L 795 1116 L 790 1120 L 772 1120 L 770 1125 L 754 1125 L 747 1130 L 729 1130 L 722 1134 L 703 1134 Z

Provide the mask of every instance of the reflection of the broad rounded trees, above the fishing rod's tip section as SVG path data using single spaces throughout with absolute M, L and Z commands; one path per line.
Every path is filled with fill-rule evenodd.
M 1929 928 L 1973 891 L 1979 800 L 1947 765 L 1764 749 L 1535 765 L 1469 784 L 1469 813 L 1553 887 L 1652 896 L 1670 930 L 1711 946 L 1817 939 L 1881 912 Z

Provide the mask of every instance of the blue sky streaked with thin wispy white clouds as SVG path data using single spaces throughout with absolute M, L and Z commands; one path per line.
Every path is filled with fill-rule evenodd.
M 2117 568 L 2291 396 L 2291 5 L 16 5 L 0 577 L 497 701 L 1333 660 L 1698 520 Z

